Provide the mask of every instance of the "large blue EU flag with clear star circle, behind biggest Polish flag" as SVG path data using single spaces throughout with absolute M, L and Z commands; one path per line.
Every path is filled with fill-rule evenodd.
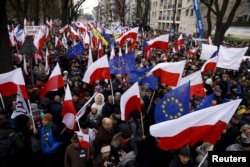
M 190 82 L 167 92 L 155 105 L 155 123 L 176 119 L 189 113 Z

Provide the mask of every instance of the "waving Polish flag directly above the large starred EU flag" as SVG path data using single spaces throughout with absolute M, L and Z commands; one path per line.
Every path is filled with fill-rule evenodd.
M 162 83 L 176 87 L 179 85 L 185 65 L 186 60 L 159 63 L 148 72 L 148 75 L 158 76 Z

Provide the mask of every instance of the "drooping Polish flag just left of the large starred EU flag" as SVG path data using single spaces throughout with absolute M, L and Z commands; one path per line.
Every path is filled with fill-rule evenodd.
M 120 100 L 120 109 L 121 120 L 123 121 L 128 121 L 130 113 L 134 110 L 142 112 L 138 82 L 135 82 L 128 90 L 126 90 L 126 92 L 122 94 Z

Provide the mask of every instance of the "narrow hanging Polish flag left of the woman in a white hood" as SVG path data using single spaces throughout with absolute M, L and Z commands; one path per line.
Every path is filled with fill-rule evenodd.
M 76 128 L 75 115 L 76 115 L 75 105 L 72 100 L 69 85 L 67 84 L 65 89 L 65 97 L 62 104 L 62 118 L 63 118 L 62 122 L 68 129 L 73 130 Z

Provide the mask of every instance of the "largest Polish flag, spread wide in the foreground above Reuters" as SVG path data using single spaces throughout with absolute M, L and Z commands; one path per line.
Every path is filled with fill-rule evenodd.
M 157 145 L 163 150 L 192 147 L 198 141 L 215 144 L 241 101 L 237 99 L 151 125 L 150 134 L 157 138 Z

